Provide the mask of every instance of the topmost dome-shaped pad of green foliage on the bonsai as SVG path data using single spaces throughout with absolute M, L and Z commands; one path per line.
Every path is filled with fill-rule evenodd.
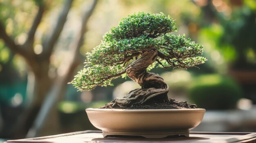
M 110 32 L 106 33 L 103 38 L 107 41 L 142 35 L 155 38 L 176 30 L 175 22 L 169 15 L 139 12 L 123 18 L 119 25 L 110 29 Z

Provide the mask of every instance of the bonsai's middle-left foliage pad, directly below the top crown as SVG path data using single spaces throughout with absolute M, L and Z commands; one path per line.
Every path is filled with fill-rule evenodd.
M 86 64 L 117 65 L 129 62 L 139 51 L 156 47 L 156 40 L 146 36 L 124 40 L 102 41 L 92 53 L 87 53 Z M 134 55 L 132 55 L 134 54 Z

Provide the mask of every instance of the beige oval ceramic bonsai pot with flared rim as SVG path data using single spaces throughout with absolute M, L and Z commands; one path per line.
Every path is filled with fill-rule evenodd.
M 189 136 L 203 119 L 205 109 L 86 109 L 92 125 L 108 136 L 143 136 L 164 138 L 170 135 Z

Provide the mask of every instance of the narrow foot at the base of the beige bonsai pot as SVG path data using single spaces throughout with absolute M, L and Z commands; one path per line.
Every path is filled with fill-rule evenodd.
M 189 131 L 172 131 L 172 132 L 110 132 L 102 131 L 104 137 L 127 137 L 143 136 L 145 138 L 165 138 L 168 136 L 182 135 L 189 137 Z

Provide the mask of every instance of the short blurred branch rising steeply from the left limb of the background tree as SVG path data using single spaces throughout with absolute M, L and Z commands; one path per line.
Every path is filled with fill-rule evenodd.
M 33 43 L 34 43 L 34 36 L 36 33 L 36 29 L 38 25 L 41 22 L 41 19 L 43 18 L 43 13 L 45 12 L 45 3 L 40 2 L 38 3 L 38 13 L 36 14 L 36 17 L 34 19 L 34 22 L 28 32 L 28 37 L 24 45 L 29 45 L 29 50 L 33 50 Z

